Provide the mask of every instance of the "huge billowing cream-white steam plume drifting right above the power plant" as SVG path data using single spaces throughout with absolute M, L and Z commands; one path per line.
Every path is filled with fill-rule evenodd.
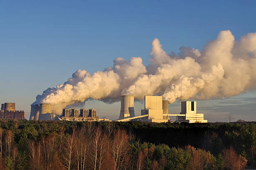
M 235 41 L 230 30 L 221 31 L 200 52 L 179 48 L 168 55 L 160 41 L 151 42 L 150 64 L 141 58 L 129 62 L 116 58 L 113 67 L 94 74 L 77 70 L 64 84 L 46 89 L 34 103 L 67 106 L 92 98 L 115 102 L 121 94 L 162 95 L 173 103 L 176 99 L 210 99 L 238 95 L 256 86 L 256 33 Z

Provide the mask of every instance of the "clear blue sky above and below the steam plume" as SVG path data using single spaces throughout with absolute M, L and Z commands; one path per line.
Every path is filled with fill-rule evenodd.
M 102 71 L 116 57 L 141 57 L 147 64 L 154 38 L 167 53 L 178 52 L 180 46 L 201 50 L 220 30 L 231 30 L 239 39 L 256 31 L 255 7 L 253 0 L 0 0 L 0 102 L 16 102 L 16 109 L 25 109 L 29 117 L 36 95 L 63 83 L 77 69 Z M 256 93 L 249 93 L 236 97 L 254 99 L 245 107 L 251 109 L 240 114 L 216 100 L 207 102 L 215 110 L 202 104 L 197 109 L 201 106 L 210 121 L 225 121 L 230 114 L 256 121 Z M 88 104 L 100 116 L 118 117 L 118 103 L 106 106 L 104 114 L 100 110 L 106 104 Z M 139 111 L 142 104 L 137 105 Z M 179 112 L 179 104 L 170 110 Z

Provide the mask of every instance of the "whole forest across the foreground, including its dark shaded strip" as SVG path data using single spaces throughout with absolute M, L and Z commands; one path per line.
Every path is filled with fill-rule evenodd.
M 243 170 L 256 122 L 0 120 L 1 170 Z

